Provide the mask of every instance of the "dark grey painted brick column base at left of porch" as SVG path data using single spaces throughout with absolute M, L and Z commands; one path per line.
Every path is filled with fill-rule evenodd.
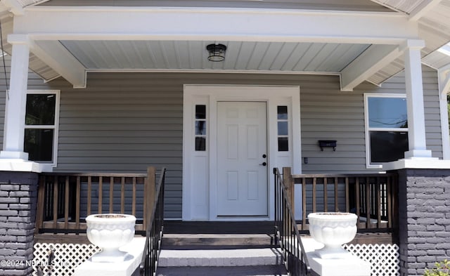
M 38 173 L 0 171 L 0 275 L 31 275 Z

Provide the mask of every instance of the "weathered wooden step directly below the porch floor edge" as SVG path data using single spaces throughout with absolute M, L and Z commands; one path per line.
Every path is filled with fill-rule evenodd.
M 266 234 L 164 234 L 162 249 L 249 249 L 271 247 Z

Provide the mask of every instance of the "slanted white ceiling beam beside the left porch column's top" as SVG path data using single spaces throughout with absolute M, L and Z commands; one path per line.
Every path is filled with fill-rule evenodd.
M 74 88 L 86 88 L 86 68 L 59 41 L 30 41 L 30 51 Z

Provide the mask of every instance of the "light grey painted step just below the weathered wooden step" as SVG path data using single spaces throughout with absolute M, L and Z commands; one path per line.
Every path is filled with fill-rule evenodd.
M 209 267 L 282 265 L 283 256 L 277 248 L 167 250 L 163 249 L 158 267 Z

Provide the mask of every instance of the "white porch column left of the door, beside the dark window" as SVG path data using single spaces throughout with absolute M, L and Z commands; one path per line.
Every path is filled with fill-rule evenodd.
M 28 154 L 23 151 L 23 140 L 30 48 L 25 35 L 10 35 L 8 42 L 13 44 L 13 54 L 10 89 L 6 95 L 3 150 L 0 152 L 0 158 L 28 160 Z

